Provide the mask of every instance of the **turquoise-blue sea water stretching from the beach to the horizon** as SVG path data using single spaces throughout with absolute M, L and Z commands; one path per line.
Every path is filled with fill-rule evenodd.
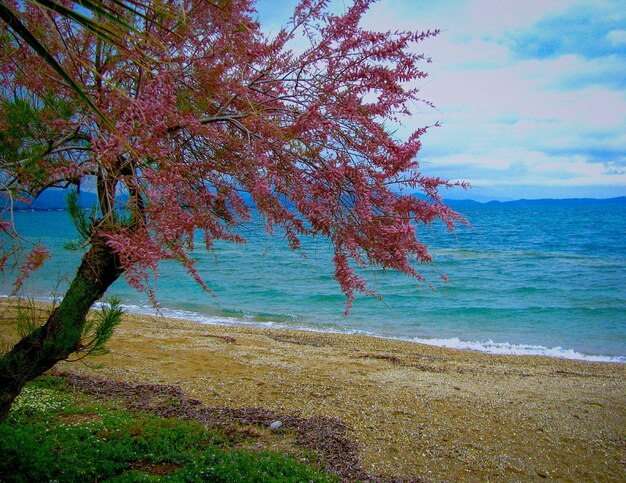
M 219 244 L 194 257 L 215 296 L 174 263 L 159 269 L 161 312 L 204 323 L 364 333 L 493 353 L 626 362 L 626 207 L 477 205 L 460 211 L 471 228 L 420 228 L 435 256 L 430 282 L 397 273 L 365 275 L 381 303 L 358 298 L 344 316 L 325 240 L 305 240 L 307 257 L 280 236 L 246 228 L 247 245 Z M 27 286 L 60 295 L 80 253 L 63 249 L 74 230 L 64 212 L 17 212 L 21 233 L 53 258 Z M 439 272 L 449 281 L 444 283 Z M 0 293 L 11 291 L 8 279 Z M 118 281 L 109 294 L 150 312 L 145 294 Z

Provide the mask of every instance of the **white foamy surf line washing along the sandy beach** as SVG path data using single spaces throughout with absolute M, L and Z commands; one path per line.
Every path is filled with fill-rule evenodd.
M 0 301 L 12 300 L 17 297 L 8 295 L 0 295 Z M 43 297 L 32 298 L 35 302 L 42 304 L 51 303 L 50 299 Z M 98 304 L 96 304 L 96 307 Z M 458 337 L 449 338 L 420 338 L 410 336 L 392 336 L 376 334 L 368 331 L 341 331 L 332 330 L 330 328 L 318 328 L 307 326 L 291 326 L 287 323 L 274 320 L 255 321 L 253 318 L 247 318 L 245 315 L 226 316 L 226 315 L 208 315 L 200 312 L 192 312 L 185 309 L 173 309 L 170 307 L 161 307 L 158 312 L 156 309 L 148 306 L 140 306 L 134 304 L 122 304 L 121 307 L 125 313 L 138 317 L 165 317 L 175 320 L 194 322 L 204 326 L 223 326 L 223 327 L 251 327 L 269 330 L 296 330 L 303 332 L 314 332 L 321 334 L 339 334 L 339 335 L 360 335 L 366 337 L 374 337 L 383 340 L 409 342 L 418 345 L 428 345 L 432 347 L 440 347 L 443 349 L 473 351 L 491 355 L 504 356 L 521 356 L 521 357 L 550 357 L 554 359 L 564 359 L 573 361 L 600 362 L 609 364 L 626 364 L 626 355 L 605 355 L 605 354 L 585 354 L 575 349 L 563 347 L 547 347 L 536 344 L 511 344 L 509 342 L 497 342 L 491 338 L 482 341 L 462 340 Z

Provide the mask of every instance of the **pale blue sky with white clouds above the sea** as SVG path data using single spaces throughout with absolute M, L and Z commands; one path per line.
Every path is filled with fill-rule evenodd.
M 276 32 L 295 0 L 259 0 Z M 333 1 L 342 10 L 349 0 Z M 442 33 L 407 129 L 423 138 L 425 174 L 463 179 L 487 199 L 626 195 L 624 0 L 380 0 L 378 30 Z

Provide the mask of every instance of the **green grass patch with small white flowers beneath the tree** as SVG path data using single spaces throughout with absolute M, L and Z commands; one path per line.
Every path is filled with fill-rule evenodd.
M 335 481 L 292 456 L 236 444 L 232 433 L 128 413 L 45 376 L 25 387 L 0 424 L 0 481 Z

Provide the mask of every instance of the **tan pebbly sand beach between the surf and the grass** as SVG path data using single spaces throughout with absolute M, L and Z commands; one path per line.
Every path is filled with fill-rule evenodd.
M 3 347 L 15 341 L 9 303 Z M 624 364 L 132 314 L 109 348 L 101 368 L 59 368 L 176 385 L 210 407 L 338 419 L 370 477 L 626 480 Z

